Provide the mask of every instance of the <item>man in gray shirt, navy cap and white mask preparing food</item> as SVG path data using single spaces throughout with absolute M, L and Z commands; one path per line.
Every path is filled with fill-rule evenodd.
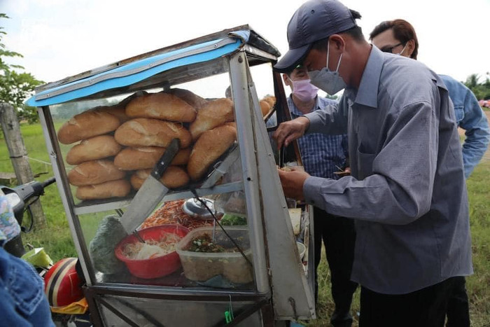
M 347 130 L 352 176 L 279 176 L 287 197 L 356 219 L 360 326 L 443 326 L 454 277 L 472 274 L 454 110 L 437 74 L 370 46 L 356 18 L 336 0 L 307 1 L 274 67 L 302 63 L 325 92 L 346 88 L 338 109 L 283 123 L 274 137 L 281 146 L 304 132 Z

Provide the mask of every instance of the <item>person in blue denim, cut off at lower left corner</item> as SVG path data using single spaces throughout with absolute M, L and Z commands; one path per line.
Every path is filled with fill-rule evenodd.
M 43 279 L 29 263 L 3 249 L 19 233 L 7 197 L 0 191 L 0 326 L 55 326 Z

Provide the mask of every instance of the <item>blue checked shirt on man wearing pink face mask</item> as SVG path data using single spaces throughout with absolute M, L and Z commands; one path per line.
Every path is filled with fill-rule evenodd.
M 328 105 L 337 106 L 337 102 L 324 97 L 316 97 L 316 105 L 312 111 L 323 110 Z M 291 96 L 288 97 L 288 106 L 292 118 L 303 113 L 297 109 Z M 323 133 L 306 134 L 297 139 L 300 147 L 304 170 L 311 176 L 337 179 L 334 172 L 344 169 L 348 154 L 347 134 L 328 135 Z

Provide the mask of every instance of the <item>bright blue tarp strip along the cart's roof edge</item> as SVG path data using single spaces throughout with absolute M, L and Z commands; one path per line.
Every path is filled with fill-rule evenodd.
M 27 100 L 29 106 L 50 106 L 80 99 L 97 92 L 132 85 L 176 67 L 214 60 L 234 53 L 248 41 L 250 31 L 238 31 L 228 38 L 207 41 L 186 48 L 136 60 L 99 74 L 43 90 Z

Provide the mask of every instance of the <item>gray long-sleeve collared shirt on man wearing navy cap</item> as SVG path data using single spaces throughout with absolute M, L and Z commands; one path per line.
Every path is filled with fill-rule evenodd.
M 304 197 L 356 219 L 354 281 L 404 294 L 472 274 L 461 145 L 439 76 L 373 47 L 358 90 L 305 116 L 308 132 L 348 130 L 352 176 L 309 177 Z

